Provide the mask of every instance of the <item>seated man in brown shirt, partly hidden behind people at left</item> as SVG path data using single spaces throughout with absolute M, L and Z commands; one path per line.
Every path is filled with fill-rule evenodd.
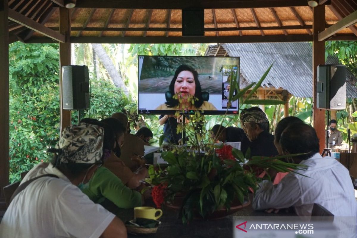
M 124 113 L 116 112 L 111 117 L 117 119 L 123 126 L 126 126 L 128 123 L 128 118 Z M 121 147 L 121 155 L 119 158 L 133 172 L 140 167 L 140 164 L 137 162 L 137 159 L 132 160 L 132 158 L 144 156 L 144 144 L 145 142 L 139 137 L 124 133 L 124 144 Z

